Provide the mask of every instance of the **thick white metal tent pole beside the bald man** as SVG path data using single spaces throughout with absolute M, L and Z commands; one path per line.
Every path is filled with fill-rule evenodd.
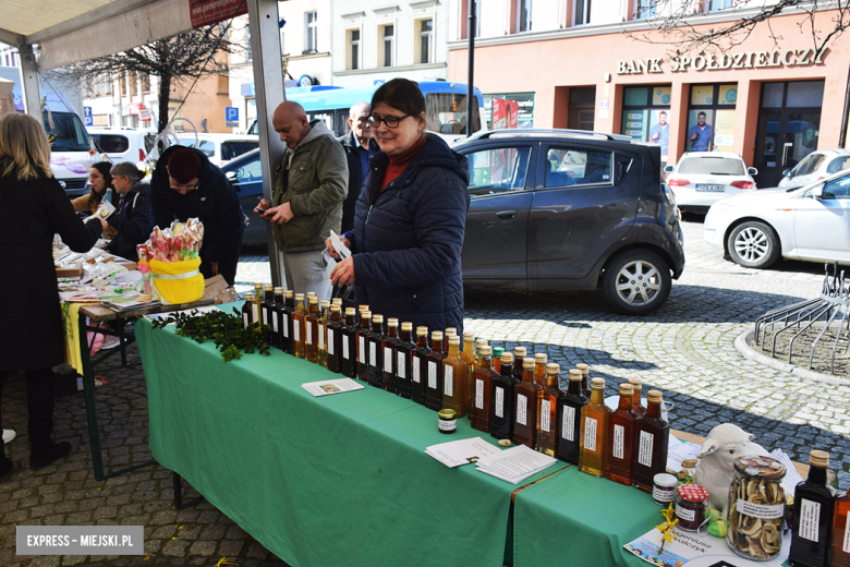
M 254 65 L 254 92 L 257 101 L 263 196 L 271 201 L 272 176 L 283 158 L 283 145 L 271 125 L 271 116 L 277 106 L 287 99 L 280 53 L 280 26 L 278 24 L 280 16 L 277 0 L 247 0 L 247 7 Z M 271 222 L 260 220 L 256 215 L 252 221 L 266 222 L 271 282 L 275 286 L 286 286 L 283 253 L 278 250 L 275 242 Z

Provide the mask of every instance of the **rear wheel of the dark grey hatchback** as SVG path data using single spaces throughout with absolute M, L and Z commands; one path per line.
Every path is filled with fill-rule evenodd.
M 605 266 L 603 294 L 618 313 L 645 315 L 670 294 L 672 277 L 667 262 L 645 249 L 624 250 Z

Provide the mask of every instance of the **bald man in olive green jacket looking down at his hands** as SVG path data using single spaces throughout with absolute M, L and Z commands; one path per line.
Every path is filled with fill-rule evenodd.
M 258 208 L 275 222 L 288 287 L 330 299 L 332 266 L 325 265 L 321 252 L 330 231 L 339 233 L 342 222 L 349 181 L 345 152 L 324 120 L 307 121 L 298 102 L 280 105 L 271 123 L 287 150 L 275 171 L 271 203 L 264 198 Z

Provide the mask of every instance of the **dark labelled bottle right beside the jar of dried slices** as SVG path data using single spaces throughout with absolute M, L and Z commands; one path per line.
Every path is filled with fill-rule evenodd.
M 827 567 L 831 551 L 835 492 L 826 483 L 829 454 L 809 454 L 809 479 L 794 488 L 793 529 L 788 562 L 794 567 Z

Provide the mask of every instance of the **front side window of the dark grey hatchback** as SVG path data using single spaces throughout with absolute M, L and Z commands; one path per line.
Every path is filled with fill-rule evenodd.
M 525 188 L 531 147 L 483 149 L 466 155 L 470 196 L 486 196 Z

